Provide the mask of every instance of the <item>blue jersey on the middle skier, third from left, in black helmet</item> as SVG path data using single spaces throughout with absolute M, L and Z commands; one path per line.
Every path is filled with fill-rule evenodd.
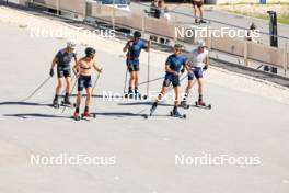
M 142 39 L 139 39 L 137 43 L 134 41 L 129 41 L 127 45 L 128 45 L 127 59 L 129 60 L 129 63 L 134 65 L 139 65 L 140 52 L 141 49 L 147 48 L 144 42 Z

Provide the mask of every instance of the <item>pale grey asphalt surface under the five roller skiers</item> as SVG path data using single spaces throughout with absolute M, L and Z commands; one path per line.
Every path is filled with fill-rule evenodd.
M 103 91 L 122 92 L 124 59 L 97 49 L 104 72 L 91 111 L 96 120 L 74 122 L 72 109 L 48 106 L 53 78 L 31 100 L 25 99 L 46 77 L 63 39 L 31 38 L 21 27 L 0 23 L 0 192 L 4 193 L 287 193 L 288 104 L 207 83 L 205 100 L 212 110 L 192 107 L 186 120 L 167 116 L 171 103 L 149 120 L 149 103 L 103 102 Z M 84 47 L 78 45 L 82 56 Z M 146 65 L 142 65 L 146 69 Z M 152 78 L 163 67 L 152 67 Z M 95 79 L 95 75 L 93 76 Z M 141 81 L 146 70 L 141 71 Z M 230 83 L 230 82 L 228 82 Z M 159 91 L 161 81 L 151 84 Z M 146 88 L 140 88 L 144 92 Z M 196 91 L 189 99 L 196 99 Z M 72 98 L 72 100 L 74 100 Z M 83 109 L 83 107 L 82 107 Z M 86 155 L 114 157 L 113 166 L 32 166 L 31 156 Z M 176 155 L 258 157 L 258 166 L 177 166 Z

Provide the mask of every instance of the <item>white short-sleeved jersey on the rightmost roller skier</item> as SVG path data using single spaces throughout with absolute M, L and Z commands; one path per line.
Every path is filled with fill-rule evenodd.
M 205 59 L 208 57 L 209 52 L 207 49 L 204 50 L 204 53 L 199 53 L 198 48 L 193 49 L 187 55 L 187 61 L 190 68 L 198 67 L 204 68 L 205 66 Z

